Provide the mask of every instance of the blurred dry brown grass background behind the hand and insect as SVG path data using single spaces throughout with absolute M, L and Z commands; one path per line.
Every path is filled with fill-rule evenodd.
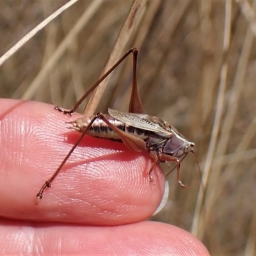
M 132 0 L 102 1 L 60 60 L 38 79 L 92 2 L 81 0 L 68 8 L 0 67 L 1 97 L 54 102 L 69 109 L 97 81 Z M 202 211 L 195 215 L 201 180 L 191 154 L 181 164 L 182 182 L 189 189 L 180 188 L 175 172 L 171 173 L 168 203 L 153 220 L 188 231 L 194 221 L 193 233 L 211 255 L 255 255 L 256 47 L 252 31 L 256 23 L 241 8 L 244 3 L 255 6 L 254 2 L 230 1 L 227 35 L 225 4 L 229 1 L 148 0 L 124 50 L 139 49 L 138 84 L 145 113 L 163 118 L 194 141 L 202 170 L 207 169 L 206 159 L 209 164 Z M 0 1 L 0 56 L 65 3 Z M 223 50 L 225 35 L 230 38 L 227 51 Z M 127 110 L 131 76 L 132 57 L 116 69 L 97 110 Z M 38 86 L 35 93 L 29 91 L 31 84 Z M 217 102 L 220 84 L 223 110 L 218 112 L 220 129 L 216 129 L 211 155 L 214 118 L 221 107 L 221 100 Z

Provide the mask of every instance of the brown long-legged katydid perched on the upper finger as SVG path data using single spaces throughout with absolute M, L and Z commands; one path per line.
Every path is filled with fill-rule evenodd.
M 193 152 L 195 143 L 188 141 L 180 132 L 173 128 L 168 122 L 156 116 L 143 114 L 141 100 L 137 88 L 137 56 L 136 48 L 130 49 L 124 56 L 113 65 L 100 79 L 84 94 L 77 104 L 70 111 L 61 109 L 58 106 L 54 108 L 64 114 L 72 115 L 78 106 L 99 84 L 132 53 L 133 56 L 133 75 L 132 75 L 132 93 L 129 104 L 129 113 L 121 113 L 119 111 L 108 109 L 108 114 L 97 113 L 93 116 L 84 116 L 78 118 L 71 124 L 74 131 L 82 132 L 81 137 L 70 149 L 67 156 L 63 159 L 58 169 L 53 173 L 49 180 L 46 180 L 40 191 L 38 192 L 37 202 L 42 199 L 44 189 L 51 187 L 52 180 L 56 178 L 63 165 L 74 152 L 75 148 L 82 140 L 85 134 L 98 138 L 122 141 L 127 148 L 136 152 L 147 150 L 152 157 L 152 164 L 148 173 L 149 180 L 152 182 L 152 170 L 154 165 L 161 162 L 173 161 L 176 163 L 177 180 L 182 188 L 186 188 L 180 181 L 180 162 L 189 152 Z

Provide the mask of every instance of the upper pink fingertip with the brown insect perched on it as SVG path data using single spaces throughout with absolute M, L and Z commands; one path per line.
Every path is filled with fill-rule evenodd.
M 85 136 L 63 170 L 36 194 L 81 135 L 66 129 L 72 117 L 39 102 L 1 100 L 0 216 L 34 221 L 122 225 L 146 220 L 161 202 L 164 175 L 152 160 L 124 143 Z

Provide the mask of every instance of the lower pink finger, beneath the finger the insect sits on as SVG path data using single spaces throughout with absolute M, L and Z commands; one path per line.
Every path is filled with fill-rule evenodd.
M 1 255 L 209 255 L 188 232 L 153 221 L 116 227 L 22 223 L 22 228 L 18 221 L 6 222 Z

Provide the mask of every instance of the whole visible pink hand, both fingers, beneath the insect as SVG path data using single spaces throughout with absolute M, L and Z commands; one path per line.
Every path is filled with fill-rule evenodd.
M 84 138 L 33 204 L 79 138 L 64 124 L 78 116 L 38 102 L 1 100 L 0 255 L 209 255 L 188 232 L 141 221 L 161 201 L 164 177 L 156 166 L 149 182 L 148 154 L 122 143 Z M 131 224 L 114 226 L 125 223 Z

